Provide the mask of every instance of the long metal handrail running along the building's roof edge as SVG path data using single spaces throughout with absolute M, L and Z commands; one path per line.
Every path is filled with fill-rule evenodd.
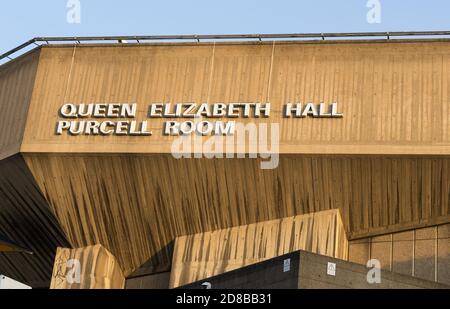
M 193 40 L 200 42 L 201 40 L 242 40 L 242 39 L 256 39 L 259 41 L 270 39 L 320 39 L 326 38 L 357 38 L 357 37 L 385 37 L 390 39 L 392 37 L 411 37 L 411 36 L 450 36 L 450 31 L 397 31 L 397 32 L 349 32 L 349 33 L 291 33 L 291 34 L 224 34 L 224 35 L 143 35 L 143 36 L 92 36 L 92 37 L 36 37 L 31 39 L 16 48 L 7 51 L 0 55 L 0 60 L 5 58 L 12 59 L 11 55 L 27 48 L 30 45 L 38 45 L 38 42 L 50 44 L 51 42 L 123 42 L 123 41 L 178 41 L 178 40 Z

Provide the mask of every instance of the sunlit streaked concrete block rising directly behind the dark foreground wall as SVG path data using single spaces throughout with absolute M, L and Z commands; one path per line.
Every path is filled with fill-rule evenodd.
M 347 259 L 348 241 L 339 210 L 178 237 L 175 240 L 170 287 L 298 250 Z

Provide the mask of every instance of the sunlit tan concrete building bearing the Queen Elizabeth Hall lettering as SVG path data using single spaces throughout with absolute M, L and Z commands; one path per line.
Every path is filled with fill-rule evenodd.
M 33 254 L 0 273 L 176 287 L 307 250 L 450 284 L 448 34 L 28 42 L 0 66 L 0 235 Z

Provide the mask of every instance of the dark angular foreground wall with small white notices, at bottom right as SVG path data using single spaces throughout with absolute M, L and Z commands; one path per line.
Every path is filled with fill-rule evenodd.
M 284 263 L 289 259 L 291 267 L 285 271 Z M 336 264 L 335 276 L 327 274 L 329 262 Z M 370 284 L 367 281 L 368 271 L 368 268 L 357 263 L 297 251 L 181 288 L 201 289 L 205 282 L 211 283 L 213 289 L 450 288 L 444 284 L 384 270 L 381 270 L 381 282 Z

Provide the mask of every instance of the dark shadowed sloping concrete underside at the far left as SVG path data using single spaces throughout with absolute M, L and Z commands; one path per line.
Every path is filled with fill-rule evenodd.
M 49 287 L 56 248 L 71 246 L 21 155 L 0 161 L 0 234 L 33 252 L 1 253 L 0 273 Z

